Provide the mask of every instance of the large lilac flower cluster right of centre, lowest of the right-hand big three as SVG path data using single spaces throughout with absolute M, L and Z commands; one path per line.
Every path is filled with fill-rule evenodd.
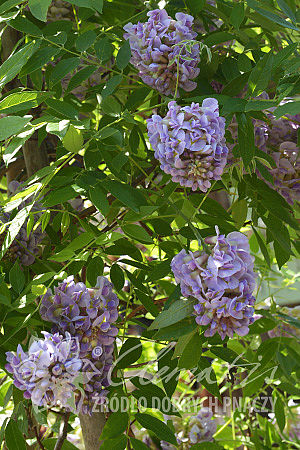
M 253 323 L 255 288 L 253 260 L 245 235 L 232 232 L 206 238 L 211 254 L 186 252 L 176 255 L 171 268 L 182 295 L 194 297 L 198 325 L 208 325 L 205 336 L 218 333 L 222 339 L 234 332 L 245 336 Z

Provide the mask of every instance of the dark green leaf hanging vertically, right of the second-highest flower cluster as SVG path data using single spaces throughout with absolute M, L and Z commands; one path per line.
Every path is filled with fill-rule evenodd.
M 239 151 L 245 167 L 248 167 L 255 155 L 254 127 L 251 118 L 246 114 L 237 113 L 236 118 Z

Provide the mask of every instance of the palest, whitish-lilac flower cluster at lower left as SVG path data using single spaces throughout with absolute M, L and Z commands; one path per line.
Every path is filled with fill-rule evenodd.
M 6 370 L 13 374 L 14 384 L 38 406 L 70 408 L 74 403 L 74 382 L 81 369 L 79 343 L 69 333 L 43 332 L 24 352 L 7 352 Z

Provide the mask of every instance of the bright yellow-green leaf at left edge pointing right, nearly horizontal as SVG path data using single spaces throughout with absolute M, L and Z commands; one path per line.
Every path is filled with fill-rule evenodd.
M 0 102 L 0 111 L 2 113 L 16 113 L 19 111 L 36 108 L 46 98 L 51 96 L 51 92 L 17 92 L 10 94 Z

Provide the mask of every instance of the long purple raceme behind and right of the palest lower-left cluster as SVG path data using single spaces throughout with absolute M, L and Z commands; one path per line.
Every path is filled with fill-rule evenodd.
M 54 331 L 67 331 L 79 341 L 82 371 L 88 374 L 84 397 L 78 397 L 77 407 L 83 413 L 91 413 L 94 404 L 105 401 L 118 334 L 114 326 L 118 304 L 112 284 L 105 277 L 98 277 L 93 289 L 68 277 L 54 289 L 54 295 L 48 292 L 42 299 L 42 318 L 54 323 Z

